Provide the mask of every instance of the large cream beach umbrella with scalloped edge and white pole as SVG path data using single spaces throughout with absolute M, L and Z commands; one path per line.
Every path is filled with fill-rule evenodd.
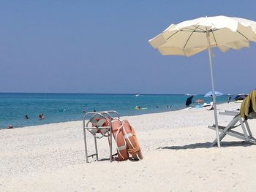
M 214 91 L 214 74 L 211 61 L 211 47 L 218 47 L 225 52 L 230 48 L 238 50 L 249 47 L 249 42 L 256 42 L 256 22 L 244 18 L 226 16 L 197 18 L 178 24 L 171 24 L 165 31 L 148 42 L 162 55 L 191 56 L 208 50 L 211 69 L 211 90 Z M 217 144 L 219 128 L 217 119 L 216 98 L 213 94 L 214 119 L 216 124 Z

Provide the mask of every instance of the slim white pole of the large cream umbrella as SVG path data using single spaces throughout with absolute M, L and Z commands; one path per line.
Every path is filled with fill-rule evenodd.
M 211 62 L 211 45 L 209 40 L 209 31 L 206 31 L 206 38 L 208 42 L 208 56 L 209 56 L 209 64 L 211 69 L 211 91 L 212 91 L 212 97 L 214 102 L 214 118 L 215 118 L 215 126 L 216 126 L 216 136 L 217 136 L 217 145 L 220 148 L 220 142 L 219 142 L 219 127 L 218 127 L 218 118 L 217 118 L 217 106 L 216 106 L 216 96 L 214 91 L 214 72 L 212 69 L 212 62 Z

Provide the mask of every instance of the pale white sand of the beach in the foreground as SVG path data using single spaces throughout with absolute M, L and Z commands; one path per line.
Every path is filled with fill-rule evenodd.
M 239 106 L 221 104 L 218 111 Z M 209 148 L 213 113 L 124 117 L 136 129 L 143 161 L 110 163 L 104 138 L 102 161 L 86 164 L 82 121 L 1 130 L 0 191 L 255 191 L 256 146 L 225 137 L 221 149 Z M 219 115 L 219 124 L 231 118 Z M 255 120 L 249 124 L 255 132 Z

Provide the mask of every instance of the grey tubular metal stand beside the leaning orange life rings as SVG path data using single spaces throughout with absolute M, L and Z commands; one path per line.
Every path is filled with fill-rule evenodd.
M 97 139 L 101 139 L 102 137 L 108 137 L 110 149 L 110 162 L 113 161 L 111 123 L 113 117 L 116 117 L 118 119 L 120 118 L 118 112 L 116 111 L 85 112 L 85 114 L 83 115 L 83 138 L 86 153 L 86 163 L 89 163 L 88 158 L 93 158 L 94 155 L 96 155 L 96 159 L 97 161 L 99 161 Z M 86 123 L 87 118 L 89 118 L 89 120 Z M 89 131 L 94 136 L 95 153 L 91 155 L 88 154 L 87 150 L 86 131 Z

